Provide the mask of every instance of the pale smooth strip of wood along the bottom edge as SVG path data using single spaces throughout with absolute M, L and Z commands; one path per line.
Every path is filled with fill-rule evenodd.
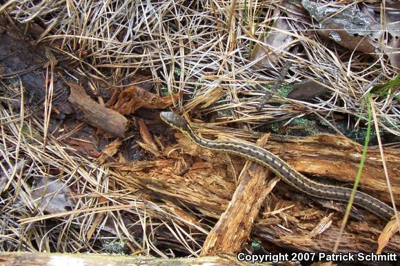
M 39 252 L 0 252 L 0 265 L 250 265 L 239 263 L 236 256 L 201 258 L 154 258 L 150 256 L 61 254 Z

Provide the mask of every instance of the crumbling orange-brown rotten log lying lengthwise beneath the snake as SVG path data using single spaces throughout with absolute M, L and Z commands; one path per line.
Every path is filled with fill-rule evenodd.
M 131 190 L 143 190 L 143 195 L 154 201 L 183 204 L 201 213 L 202 217 L 219 219 L 228 208 L 235 191 L 232 176 L 237 176 L 241 171 L 244 160 L 198 147 L 183 134 L 176 136 L 175 148 L 179 148 L 169 152 L 169 158 L 152 161 L 146 169 L 138 167 L 134 170 L 134 166 L 131 166 L 129 172 L 124 167 L 120 170 L 116 167 L 114 178 Z M 362 150 L 361 145 L 330 134 L 309 138 L 270 136 L 263 147 L 309 176 L 330 176 L 348 182 L 352 182 L 356 176 Z M 396 170 L 400 169 L 400 152 L 390 148 L 383 150 L 394 198 L 399 205 L 400 173 Z M 177 165 L 184 165 L 186 161 L 186 156 L 182 154 L 189 154 L 194 163 L 188 166 L 186 174 L 179 176 Z M 387 201 L 388 192 L 384 185 L 386 178 L 380 160 L 378 148 L 370 147 L 360 186 L 364 191 Z M 303 200 L 299 201 L 299 197 L 303 197 Z M 306 196 L 303 194 L 279 182 L 263 202 L 259 217 L 252 228 L 252 236 L 290 249 L 332 252 L 343 214 L 320 207 L 304 198 Z M 242 203 L 251 205 L 253 201 L 243 198 Z M 339 251 L 376 252 L 377 238 L 385 224 L 373 214 L 361 213 L 364 216 L 363 221 L 348 223 Z M 201 218 L 195 223 L 207 229 L 201 224 Z M 239 225 L 237 230 L 240 229 L 243 229 L 243 225 Z M 399 251 L 400 237 L 395 234 L 383 252 L 400 254 Z

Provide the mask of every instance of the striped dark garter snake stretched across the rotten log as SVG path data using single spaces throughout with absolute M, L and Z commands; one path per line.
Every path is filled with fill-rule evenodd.
M 274 174 L 280 176 L 283 181 L 294 187 L 296 190 L 317 198 L 326 198 L 333 201 L 349 201 L 350 194 L 352 193 L 351 189 L 313 181 L 303 174 L 300 174 L 281 158 L 268 152 L 262 147 L 234 141 L 210 141 L 208 139 L 203 139 L 193 132 L 188 122 L 183 119 L 182 116 L 173 112 L 161 112 L 160 117 L 171 127 L 180 130 L 197 145 L 209 150 L 237 154 L 243 158 L 249 159 L 250 161 L 260 163 L 261 165 L 268 167 L 272 172 L 274 172 Z M 389 207 L 377 198 L 363 192 L 356 192 L 353 203 L 363 209 L 367 209 L 369 212 L 377 214 L 377 216 L 380 216 L 386 221 L 389 221 L 394 215 L 392 207 Z

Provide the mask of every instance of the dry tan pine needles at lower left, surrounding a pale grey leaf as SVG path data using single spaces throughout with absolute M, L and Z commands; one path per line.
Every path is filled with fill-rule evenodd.
M 146 201 L 139 193 L 117 190 L 117 185 L 108 178 L 108 167 L 77 154 L 50 134 L 43 150 L 43 120 L 34 115 L 15 119 L 10 104 L 0 106 L 0 166 L 3 183 L 10 181 L 1 194 L 0 251 L 104 252 L 106 241 L 124 239 L 126 243 L 134 243 L 130 252 L 150 254 L 151 251 L 170 257 L 166 250 L 159 250 L 153 244 L 157 232 L 173 236 L 192 254 L 200 249 L 201 245 L 196 244 L 182 225 L 206 234 L 203 229 L 164 205 Z M 32 188 L 42 177 L 58 178 L 73 188 L 76 207 L 56 214 L 40 212 L 39 201 L 32 198 Z M 96 223 L 99 216 L 101 224 Z M 57 223 L 50 218 L 57 218 Z M 94 225 L 98 227 L 92 228 Z M 119 236 L 105 234 L 101 229 L 107 227 Z

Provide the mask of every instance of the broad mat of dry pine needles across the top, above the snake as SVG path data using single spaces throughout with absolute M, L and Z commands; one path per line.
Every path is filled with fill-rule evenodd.
M 103 79 L 109 76 L 110 81 L 120 74 L 129 77 L 137 72 L 151 72 L 158 89 L 168 88 L 169 94 L 179 90 L 191 94 L 192 99 L 187 103 L 177 103 L 177 110 L 188 112 L 200 108 L 198 114 L 228 110 L 219 113 L 221 121 L 240 118 L 259 125 L 281 120 L 282 116 L 303 116 L 304 112 L 296 112 L 295 107 L 306 108 L 306 113 L 318 113 L 328 120 L 332 120 L 333 112 L 340 112 L 365 121 L 365 112 L 361 113 L 360 108 L 371 89 L 371 81 L 383 74 L 381 82 L 385 83 L 397 73 L 385 57 L 377 55 L 371 59 L 363 54 L 349 54 L 348 50 L 327 44 L 314 31 L 303 30 L 289 20 L 292 31 L 286 33 L 295 41 L 286 46 L 300 44 L 304 51 L 294 57 L 293 72 L 286 82 L 323 79 L 331 84 L 327 88 L 331 97 L 328 100 L 316 97 L 313 102 L 289 101 L 290 110 L 284 105 L 283 110 L 266 106 L 257 112 L 255 107 L 262 94 L 256 85 L 274 83 L 280 68 L 267 72 L 252 70 L 257 62 L 248 60 L 249 47 L 260 43 L 271 49 L 259 37 L 268 32 L 276 19 L 272 14 L 279 6 L 273 1 L 235 1 L 234 10 L 230 1 L 11 2 L 19 3 L 18 8 L 10 8 L 12 17 L 22 22 L 37 19 L 49 25 L 52 34 L 43 39 L 62 41 L 60 50 L 68 51 L 75 59 L 86 54 L 79 58 L 81 68 L 77 71 L 90 71 L 90 75 Z M 288 3 L 282 3 L 280 8 L 286 6 Z M 288 57 L 289 53 L 283 52 L 281 66 Z M 214 106 L 201 108 L 199 103 L 207 101 L 210 92 L 220 88 L 224 97 Z M 241 94 L 255 97 L 239 102 Z M 272 101 L 277 99 L 282 98 L 275 94 Z M 393 96 L 377 97 L 374 101 L 379 125 L 400 135 L 400 110 Z M 255 114 L 257 119 L 253 117 Z

